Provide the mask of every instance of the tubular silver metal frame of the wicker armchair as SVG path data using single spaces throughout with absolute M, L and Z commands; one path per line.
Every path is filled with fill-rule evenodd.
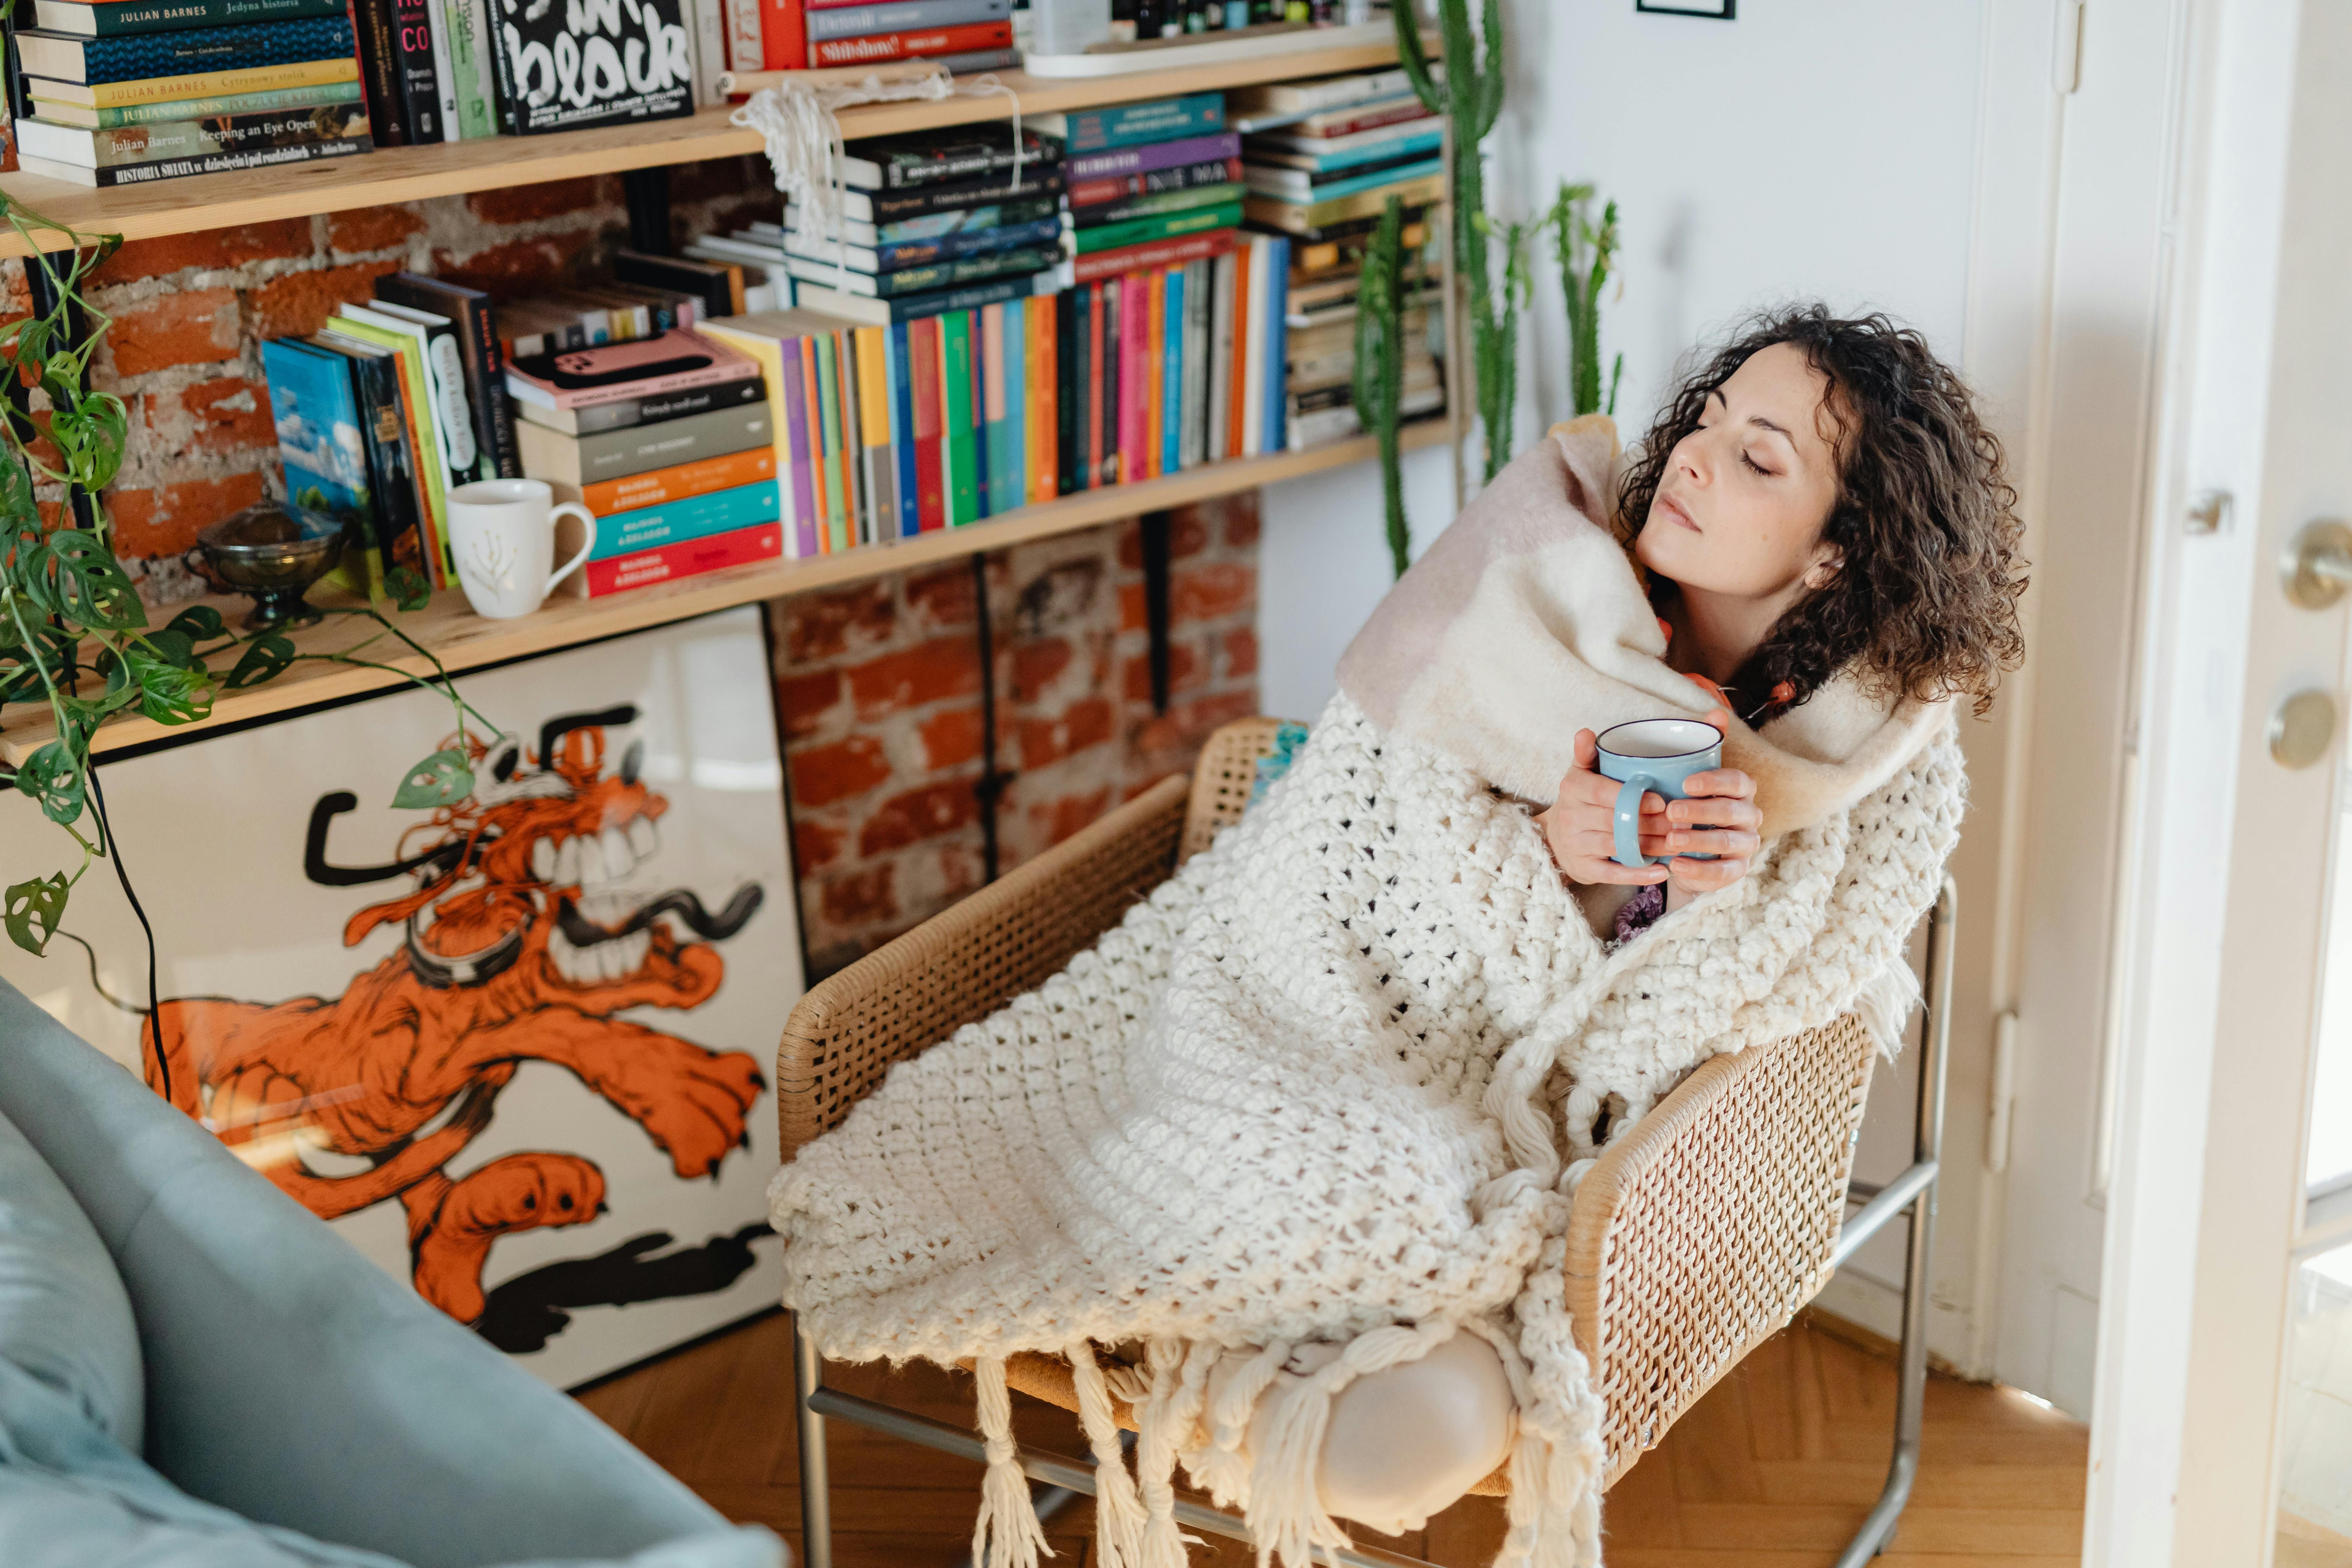
M 1929 1276 L 1936 1244 L 1936 1180 L 1943 1154 L 1945 1058 L 1952 1032 L 1952 929 L 1959 912 L 1959 889 L 1950 877 L 1929 910 L 1926 933 L 1926 1027 L 1919 1048 L 1919 1091 L 1912 1124 L 1912 1164 L 1884 1187 L 1849 1182 L 1846 1201 L 1860 1201 L 1839 1227 L 1830 1267 L 1844 1265 L 1865 1241 L 1896 1215 L 1910 1215 L 1907 1258 L 1903 1269 L 1903 1338 L 1898 1349 L 1896 1448 L 1886 1486 L 1870 1509 L 1860 1533 L 1837 1559 L 1837 1568 L 1860 1568 L 1893 1540 L 1896 1521 L 1919 1476 L 1919 1432 L 1926 1401 L 1926 1316 Z M 804 1568 L 833 1568 L 833 1493 L 826 1467 L 826 1422 L 847 1420 L 910 1443 L 967 1460 L 985 1460 L 976 1432 L 913 1410 L 898 1410 L 873 1399 L 828 1389 L 816 1345 L 793 1321 L 793 1385 L 800 1422 L 800 1540 Z M 1661 1434 L 1663 1436 L 1663 1434 Z M 1021 1469 L 1068 1495 L 1094 1495 L 1094 1465 L 1044 1448 L 1021 1446 Z M 1223 1509 L 1178 1500 L 1176 1519 L 1185 1528 L 1249 1540 L 1249 1526 Z M 1343 1568 L 1435 1568 L 1423 1559 L 1392 1552 L 1341 1549 L 1329 1554 Z M 981 1568 L 981 1566 L 974 1566 Z

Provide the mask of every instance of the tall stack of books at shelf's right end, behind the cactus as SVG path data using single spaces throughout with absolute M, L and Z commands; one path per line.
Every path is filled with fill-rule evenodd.
M 1291 442 L 1355 435 L 1355 289 L 1364 242 L 1388 197 L 1404 202 L 1406 310 L 1402 414 L 1444 407 L 1430 313 L 1437 292 L 1418 266 L 1428 207 L 1444 195 L 1442 129 L 1402 71 L 1277 82 L 1232 94 L 1247 129 L 1244 212 L 1294 237 L 1287 402 Z

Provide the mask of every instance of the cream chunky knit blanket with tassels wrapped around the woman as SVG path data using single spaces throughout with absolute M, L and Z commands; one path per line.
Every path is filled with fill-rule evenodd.
M 1303 1568 L 1345 1542 L 1315 1493 L 1331 1399 L 1456 1333 L 1496 1347 L 1519 1410 L 1498 1563 L 1599 1561 L 1602 1408 L 1562 1305 L 1595 1131 L 1710 1056 L 1875 999 L 1891 1034 L 1964 795 L 1940 705 L 1832 686 L 1733 726 L 1773 837 L 1731 889 L 1604 945 L 1529 799 L 1578 724 L 1705 708 L 1592 522 L 1611 454 L 1604 425 L 1564 428 L 1512 463 L 1367 625 L 1242 823 L 779 1173 L 786 1302 L 826 1356 L 976 1366 L 976 1561 L 1028 1568 L 1044 1544 L 1014 1352 L 1073 1366 L 1105 1568 L 1181 1568 L 1178 1462 L 1247 1514 L 1261 1561 Z M 1343 1349 L 1277 1375 L 1308 1342 Z M 1279 1406 L 1244 1446 L 1261 1401 Z

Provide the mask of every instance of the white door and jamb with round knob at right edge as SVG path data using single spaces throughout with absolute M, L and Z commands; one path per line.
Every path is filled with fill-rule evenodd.
M 2352 520 L 2352 5 L 2197 0 L 2180 59 L 2086 1561 L 2333 1568 L 2352 1563 L 2352 602 L 2298 602 L 2281 559 Z M 2201 503 L 2223 494 L 2227 512 Z

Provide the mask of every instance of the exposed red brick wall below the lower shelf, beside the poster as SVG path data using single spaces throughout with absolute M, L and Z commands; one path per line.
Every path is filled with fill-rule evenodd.
M 1134 522 L 988 557 L 1000 870 L 1192 766 L 1258 710 L 1258 501 L 1169 529 L 1169 710 L 1152 712 Z M 971 567 L 769 604 L 811 978 L 981 886 L 981 658 Z

